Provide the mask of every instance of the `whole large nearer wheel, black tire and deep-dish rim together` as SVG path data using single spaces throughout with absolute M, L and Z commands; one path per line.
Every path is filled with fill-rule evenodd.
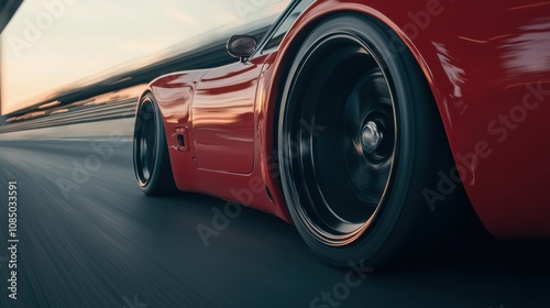
M 424 229 L 422 189 L 452 166 L 426 78 L 393 32 L 336 15 L 297 51 L 278 121 L 282 186 L 323 260 L 375 267 Z

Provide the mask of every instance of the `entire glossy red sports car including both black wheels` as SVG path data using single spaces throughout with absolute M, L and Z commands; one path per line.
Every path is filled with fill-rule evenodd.
M 497 238 L 549 238 L 550 2 L 490 2 L 290 1 L 240 61 L 150 84 L 140 187 L 273 213 L 337 265 L 385 262 L 462 186 Z

